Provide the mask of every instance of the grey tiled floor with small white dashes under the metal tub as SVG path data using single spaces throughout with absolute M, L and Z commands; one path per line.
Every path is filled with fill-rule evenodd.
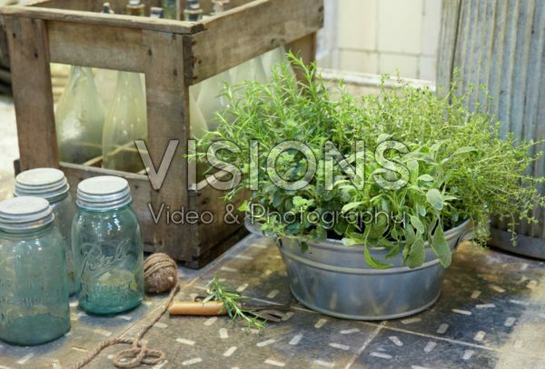
M 163 318 L 145 336 L 166 360 L 157 368 L 538 368 L 545 367 L 543 263 L 462 244 L 447 271 L 441 298 L 400 320 L 354 322 L 316 314 L 293 301 L 285 268 L 272 242 L 246 237 L 201 271 L 180 268 L 176 300 L 202 294 L 218 274 L 243 294 L 292 304 L 288 319 L 262 332 L 226 317 Z M 0 345 L 0 368 L 61 368 L 79 361 L 104 339 L 131 336 L 164 301 L 149 297 L 134 311 L 111 318 L 72 305 L 73 329 L 38 347 Z M 88 365 L 113 367 L 110 347 Z

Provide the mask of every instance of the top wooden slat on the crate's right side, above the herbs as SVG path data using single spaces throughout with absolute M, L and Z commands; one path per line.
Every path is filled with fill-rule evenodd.
M 192 36 L 192 84 L 322 27 L 322 0 L 291 4 L 292 0 L 256 0 L 204 20 L 204 31 Z

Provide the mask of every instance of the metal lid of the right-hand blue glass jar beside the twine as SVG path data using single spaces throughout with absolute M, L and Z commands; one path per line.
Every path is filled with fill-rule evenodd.
M 85 179 L 77 185 L 75 203 L 86 210 L 108 211 L 131 204 L 129 183 L 114 175 L 101 175 Z

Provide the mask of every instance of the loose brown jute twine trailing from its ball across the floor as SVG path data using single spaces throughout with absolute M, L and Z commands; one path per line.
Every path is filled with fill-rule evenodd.
M 150 259 L 152 260 L 150 261 Z M 115 354 L 112 361 L 114 362 L 114 365 L 118 368 L 134 368 L 135 366 L 138 366 L 140 364 L 156 365 L 163 361 L 164 353 L 160 350 L 147 348 L 147 343 L 142 339 L 142 337 L 144 337 L 144 334 L 146 334 L 147 331 L 149 331 L 150 328 L 154 326 L 154 324 L 157 323 L 159 319 L 161 319 L 163 314 L 168 310 L 169 305 L 173 302 L 174 296 L 178 293 L 178 290 L 180 289 L 180 284 L 178 283 L 177 268 L 176 263 L 167 254 L 154 254 L 146 260 L 146 263 L 144 263 L 144 279 L 148 279 L 154 274 L 163 271 L 164 268 L 172 268 L 172 266 L 174 266 L 174 269 L 176 270 L 176 277 L 173 289 L 171 290 L 166 302 L 163 304 L 161 309 L 157 312 L 157 314 L 155 314 L 154 319 L 152 319 L 149 323 L 145 324 L 144 327 L 140 330 L 138 334 L 136 334 L 134 338 L 124 338 L 118 336 L 103 341 L 101 344 L 96 346 L 90 354 L 84 357 L 82 361 L 75 364 L 73 366 L 74 369 L 79 369 L 81 367 L 84 367 L 84 365 L 91 363 L 91 361 L 93 361 L 93 359 L 98 356 L 98 354 L 100 354 L 104 350 L 104 348 L 114 344 L 132 345 L 131 348 Z

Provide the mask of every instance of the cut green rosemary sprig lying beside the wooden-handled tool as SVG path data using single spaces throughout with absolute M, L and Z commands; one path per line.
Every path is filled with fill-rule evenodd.
M 243 300 L 247 300 L 237 291 L 227 288 L 218 279 L 218 275 L 215 274 L 213 280 L 206 285 L 206 293 L 208 294 L 203 302 L 218 301 L 223 303 L 224 309 L 231 319 L 242 318 L 249 328 L 257 328 L 262 330 L 265 327 L 265 323 L 253 316 L 253 311 L 243 308 Z

